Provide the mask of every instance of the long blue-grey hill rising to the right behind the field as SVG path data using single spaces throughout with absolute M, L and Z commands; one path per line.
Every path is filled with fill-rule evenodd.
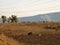
M 21 17 L 18 19 L 20 22 L 37 22 L 37 21 L 60 21 L 60 12 L 38 14 L 36 16 Z

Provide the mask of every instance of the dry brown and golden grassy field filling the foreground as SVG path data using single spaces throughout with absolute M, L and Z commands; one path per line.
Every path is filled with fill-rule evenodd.
M 1 23 L 0 45 L 60 45 L 60 22 Z

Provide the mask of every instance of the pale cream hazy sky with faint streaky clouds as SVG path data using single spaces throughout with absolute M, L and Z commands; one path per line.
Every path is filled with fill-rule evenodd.
M 0 0 L 0 15 L 20 17 L 60 12 L 60 0 Z

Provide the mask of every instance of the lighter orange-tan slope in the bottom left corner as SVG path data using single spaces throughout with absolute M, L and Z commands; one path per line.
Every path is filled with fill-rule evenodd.
M 0 34 L 0 45 L 19 45 L 19 42 L 13 40 L 12 38 L 8 38 L 3 33 Z

